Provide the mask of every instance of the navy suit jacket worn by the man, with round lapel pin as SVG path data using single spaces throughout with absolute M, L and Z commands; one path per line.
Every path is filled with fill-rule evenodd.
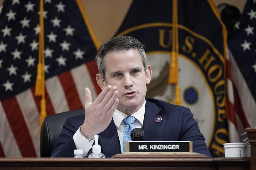
M 156 123 L 156 117 L 162 117 L 162 121 Z M 77 115 L 66 120 L 51 157 L 74 157 L 76 145 L 73 135 L 83 124 L 84 118 L 85 115 Z M 145 140 L 147 141 L 193 141 L 193 152 L 211 157 L 197 122 L 187 107 L 146 98 L 143 130 L 145 132 Z M 101 152 L 106 157 L 121 153 L 120 142 L 113 119 L 107 129 L 99 134 L 99 143 Z M 92 149 L 88 154 L 91 152 Z

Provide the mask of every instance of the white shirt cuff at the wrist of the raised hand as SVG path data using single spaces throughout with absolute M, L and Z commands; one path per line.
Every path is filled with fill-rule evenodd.
M 85 157 L 88 154 L 88 152 L 90 151 L 90 149 L 92 148 L 94 139 L 89 141 L 86 137 L 84 137 L 80 133 L 80 128 L 81 128 L 81 126 L 77 129 L 76 133 L 74 134 L 73 140 L 75 142 L 76 149 L 82 149 L 83 156 Z

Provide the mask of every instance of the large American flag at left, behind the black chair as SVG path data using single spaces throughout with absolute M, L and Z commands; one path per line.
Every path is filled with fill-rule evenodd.
M 34 95 L 39 0 L 5 0 L 0 8 L 0 157 L 39 157 L 40 97 Z M 44 0 L 47 115 L 84 107 L 84 87 L 100 88 L 97 41 L 81 1 Z

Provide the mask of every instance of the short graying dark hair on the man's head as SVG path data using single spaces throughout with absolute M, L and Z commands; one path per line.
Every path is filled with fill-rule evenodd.
M 144 45 L 141 43 L 141 41 L 138 41 L 136 38 L 130 37 L 130 36 L 115 37 L 106 41 L 100 46 L 100 49 L 98 50 L 98 54 L 96 55 L 96 58 L 95 58 L 100 75 L 106 81 L 106 75 L 105 75 L 106 65 L 105 65 L 104 57 L 109 52 L 120 52 L 123 50 L 130 50 L 130 49 L 136 49 L 139 51 L 143 67 L 146 72 L 147 56 L 143 47 Z

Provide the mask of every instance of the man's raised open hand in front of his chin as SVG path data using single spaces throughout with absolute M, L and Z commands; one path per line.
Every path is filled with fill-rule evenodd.
M 119 103 L 117 95 L 117 87 L 107 85 L 92 102 L 91 91 L 85 88 L 85 119 L 80 129 L 85 137 L 93 139 L 108 127 Z

